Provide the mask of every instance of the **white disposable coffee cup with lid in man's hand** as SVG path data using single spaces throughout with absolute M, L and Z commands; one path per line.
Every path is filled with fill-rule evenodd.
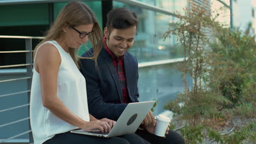
M 170 122 L 171 122 L 171 119 L 164 115 L 157 116 L 156 125 L 155 125 L 155 135 L 164 137 L 166 133 L 166 129 Z

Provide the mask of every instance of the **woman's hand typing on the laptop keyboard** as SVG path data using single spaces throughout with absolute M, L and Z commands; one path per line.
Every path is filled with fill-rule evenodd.
M 107 133 L 111 129 L 110 125 L 103 121 L 85 122 L 83 125 L 79 125 L 79 128 L 83 129 L 84 131 L 99 129 L 102 133 Z

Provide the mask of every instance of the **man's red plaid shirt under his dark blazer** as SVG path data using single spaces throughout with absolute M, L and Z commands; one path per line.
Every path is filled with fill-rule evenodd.
M 126 78 L 125 78 L 125 68 L 124 68 L 124 56 L 117 57 L 114 55 L 112 51 L 109 50 L 107 44 L 106 44 L 106 37 L 103 38 L 104 41 L 104 48 L 108 52 L 108 54 L 112 57 L 112 63 L 115 67 L 115 70 L 117 70 L 119 81 L 121 82 L 121 89 L 123 92 L 123 103 L 127 103 L 129 97 L 126 87 Z

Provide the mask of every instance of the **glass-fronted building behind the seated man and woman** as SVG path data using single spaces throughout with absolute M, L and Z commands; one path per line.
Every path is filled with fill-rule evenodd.
M 203 2 L 203 0 L 193 1 L 199 5 Z M 229 14 L 232 14 L 232 9 L 234 11 L 237 7 L 236 4 L 232 7 L 231 4 L 236 2 L 231 1 L 234 0 L 207 0 L 209 8 L 212 7 L 212 2 L 220 7 L 224 6 Z M 253 2 L 253 0 L 246 1 Z M 49 28 L 67 2 L 68 0 L 0 1 L 0 143 L 32 142 L 28 116 L 32 75 L 30 49 L 34 49 L 39 41 L 35 37 L 43 36 L 43 32 Z M 189 6 L 189 1 L 89 0 L 84 3 L 95 12 L 102 29 L 108 11 L 113 8 L 126 7 L 138 15 L 136 40 L 129 51 L 139 62 L 139 100 L 157 99 L 159 103 L 154 114 L 165 112 L 162 106 L 183 91 L 181 73 L 176 69 L 177 64 L 183 61 L 183 52 L 178 49 L 174 35 L 166 40 L 162 35 L 167 31 L 168 23 L 178 21 L 174 15 L 175 11 L 183 13 L 182 9 Z M 232 26 L 233 23 L 234 26 L 243 25 L 236 20 L 242 16 L 237 18 L 234 15 L 232 20 L 229 14 L 223 19 L 227 25 Z M 10 38 L 1 35 L 28 37 Z M 90 48 L 90 44 L 86 46 Z M 85 51 L 83 46 L 79 54 Z M 188 83 L 192 85 L 189 76 Z

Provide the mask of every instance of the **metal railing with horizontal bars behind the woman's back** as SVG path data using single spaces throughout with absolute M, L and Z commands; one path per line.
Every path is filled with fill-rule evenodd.
M 44 37 L 23 37 L 23 36 L 0 35 L 0 38 L 25 39 L 25 47 L 26 47 L 26 50 L 21 50 L 21 51 L 0 51 L 0 53 L 21 53 L 21 52 L 26 53 L 26 63 L 25 64 L 1 65 L 0 66 L 0 70 L 1 70 L 1 68 L 14 68 L 14 67 L 26 66 L 26 77 L 19 77 L 19 78 L 16 78 L 16 79 L 0 80 L 0 83 L 10 82 L 10 81 L 20 81 L 20 80 L 26 80 L 27 81 L 27 89 L 25 89 L 25 91 L 2 94 L 2 95 L 0 95 L 0 98 L 9 97 L 10 95 L 18 95 L 18 94 L 22 94 L 22 93 L 27 93 L 27 99 L 28 99 L 27 104 L 18 105 L 18 106 L 10 107 L 8 109 L 0 110 L 0 113 L 1 113 L 1 112 L 7 112 L 7 111 L 10 111 L 10 110 L 14 110 L 14 109 L 20 109 L 21 107 L 27 107 L 27 111 L 28 111 L 28 117 L 18 119 L 16 121 L 1 124 L 0 128 L 6 127 L 8 125 L 24 122 L 24 121 L 28 121 L 28 125 L 29 125 L 29 128 L 28 128 L 27 131 L 24 131 L 20 134 L 8 137 L 7 139 L 0 140 L 0 143 L 8 142 L 11 139 L 15 139 L 16 137 L 19 137 L 19 136 L 22 136 L 22 135 L 25 135 L 25 134 L 29 134 L 29 141 L 28 142 L 32 143 L 33 142 L 33 136 L 32 136 L 32 133 L 31 133 L 30 115 L 29 115 L 30 92 L 31 92 L 31 90 L 28 89 L 28 88 L 31 88 L 31 82 L 32 82 L 32 68 L 33 68 L 32 39 L 43 39 Z

